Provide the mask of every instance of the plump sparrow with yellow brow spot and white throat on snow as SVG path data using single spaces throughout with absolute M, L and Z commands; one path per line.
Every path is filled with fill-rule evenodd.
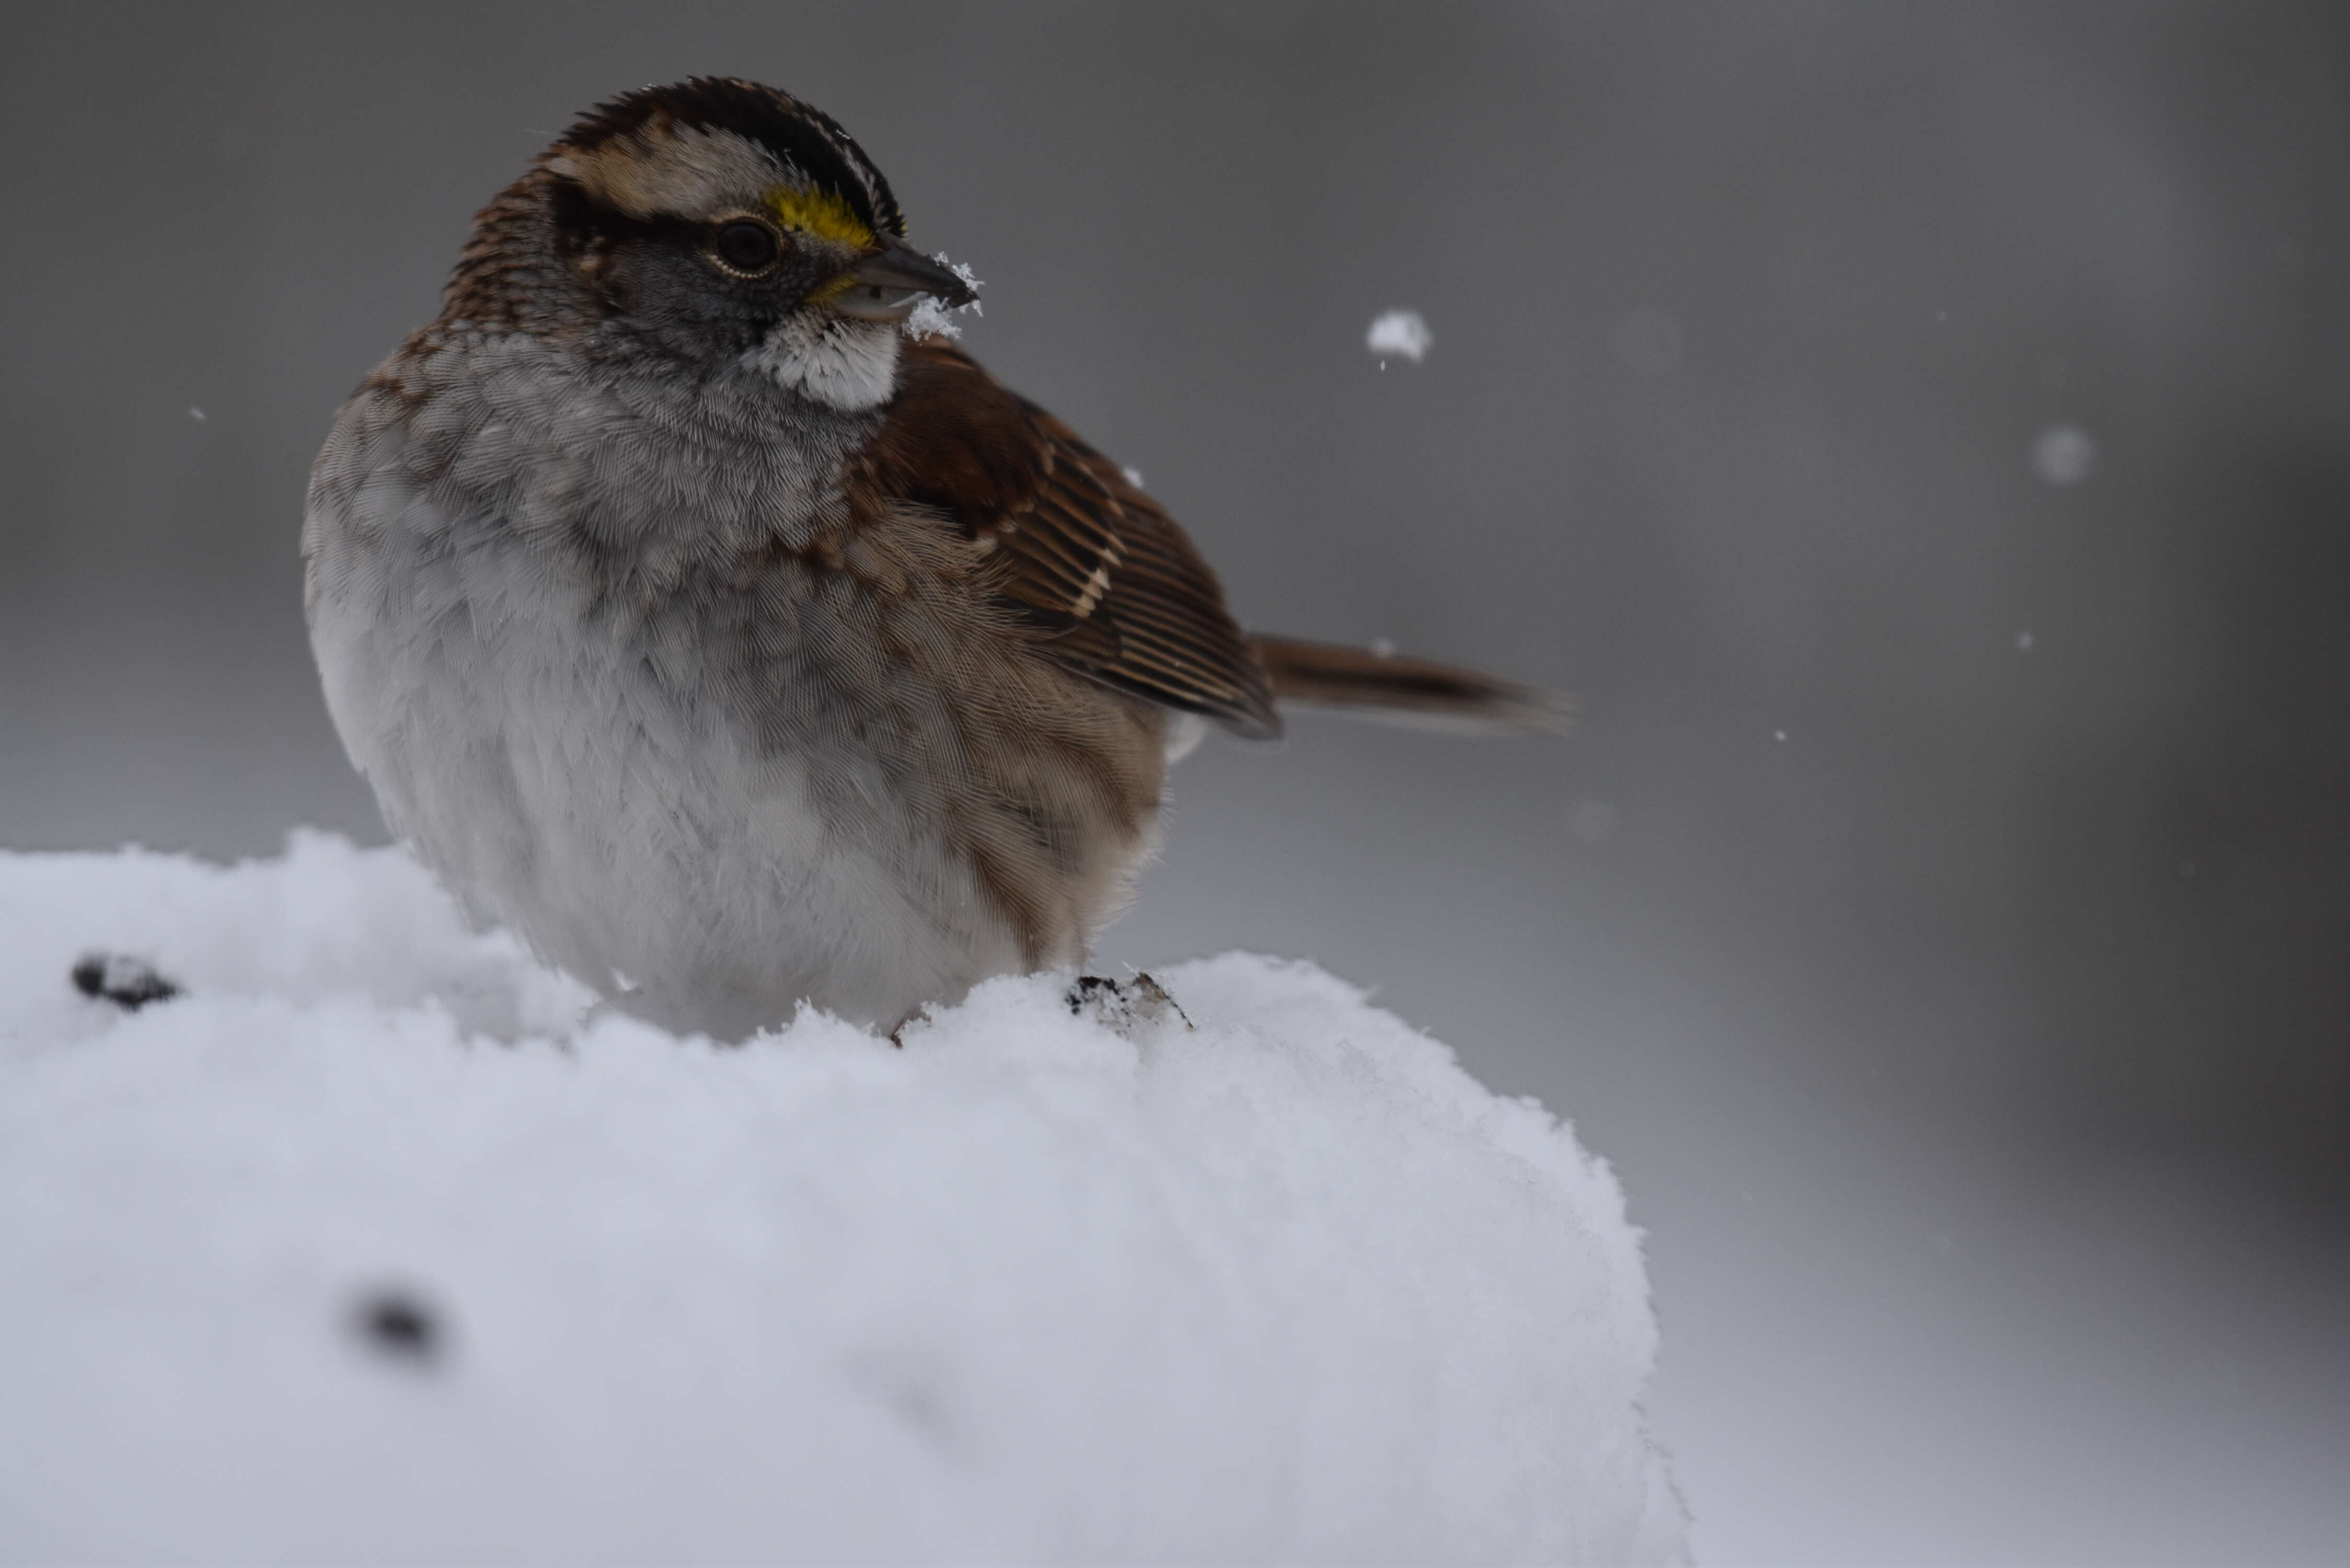
M 479 212 L 310 473 L 310 642 L 388 827 L 677 1032 L 895 1032 L 1074 971 L 1208 726 L 1565 722 L 1243 632 L 1166 508 L 942 329 L 975 284 L 905 235 L 801 99 L 625 92 Z

